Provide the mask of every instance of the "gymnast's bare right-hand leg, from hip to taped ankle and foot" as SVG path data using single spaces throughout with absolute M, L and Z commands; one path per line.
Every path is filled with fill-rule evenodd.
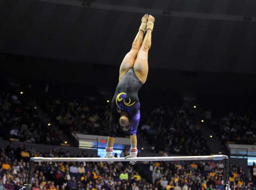
M 151 33 L 153 29 L 153 23 L 155 21 L 154 17 L 149 15 L 147 19 L 147 34 L 144 37 L 143 43 L 141 48 L 139 49 L 137 58 L 134 62 L 134 72 L 139 80 L 144 84 L 147 80 L 147 73 L 148 73 L 148 64 L 147 64 L 147 56 L 148 51 L 151 47 Z

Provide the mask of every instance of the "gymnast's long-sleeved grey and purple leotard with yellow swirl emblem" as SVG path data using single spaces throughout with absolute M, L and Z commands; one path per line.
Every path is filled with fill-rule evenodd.
M 128 114 L 131 123 L 130 135 L 136 135 L 140 118 L 138 91 L 141 86 L 142 83 L 135 75 L 133 68 L 129 69 L 119 81 L 111 102 L 110 137 L 116 137 L 121 111 Z

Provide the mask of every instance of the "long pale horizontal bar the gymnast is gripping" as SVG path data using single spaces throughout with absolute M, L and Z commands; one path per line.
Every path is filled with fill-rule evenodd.
M 179 161 L 179 160 L 224 160 L 226 155 L 211 156 L 162 156 L 162 157 L 136 157 L 136 158 L 44 158 L 32 157 L 31 161 Z

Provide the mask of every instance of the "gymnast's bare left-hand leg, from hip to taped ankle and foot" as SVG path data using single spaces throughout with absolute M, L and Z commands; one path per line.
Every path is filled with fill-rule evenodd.
M 148 17 L 148 15 L 145 14 L 141 18 L 141 23 L 143 23 L 143 24 L 141 24 L 141 27 L 139 28 L 139 32 L 133 41 L 130 52 L 126 54 L 125 58 L 122 61 L 122 64 L 120 65 L 119 81 L 123 77 L 123 75 L 134 65 L 138 51 L 141 48 L 144 30 L 146 30 L 147 17 Z

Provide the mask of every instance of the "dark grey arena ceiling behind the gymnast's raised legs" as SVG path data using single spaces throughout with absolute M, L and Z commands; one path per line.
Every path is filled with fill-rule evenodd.
M 149 65 L 256 73 L 255 0 L 0 0 L 0 52 L 119 65 L 143 13 Z

